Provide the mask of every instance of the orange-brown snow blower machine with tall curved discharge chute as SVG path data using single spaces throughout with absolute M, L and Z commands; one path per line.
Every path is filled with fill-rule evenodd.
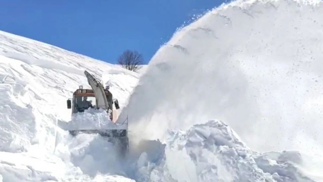
M 104 109 L 109 115 L 107 117 L 109 120 L 104 122 L 110 122 L 108 124 L 111 127 L 103 129 L 75 129 L 69 130 L 69 134 L 72 136 L 78 134 L 100 134 L 102 137 L 107 138 L 109 142 L 117 144 L 120 154 L 124 156 L 129 151 L 128 119 L 123 121 L 123 123 L 116 123 L 116 110 L 120 107 L 118 100 L 113 99 L 109 86 L 104 88 L 103 83 L 86 70 L 84 74 L 92 89 L 83 89 L 81 85 L 74 91 L 73 98 L 67 100 L 67 108 L 72 109 L 72 118 L 73 115 L 84 112 L 89 108 Z

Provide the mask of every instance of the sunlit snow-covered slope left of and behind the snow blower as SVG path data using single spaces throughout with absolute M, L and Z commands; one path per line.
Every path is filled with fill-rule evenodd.
M 50 172 L 49 176 L 68 171 L 65 162 L 53 155 L 68 136 L 57 123 L 69 121 L 66 100 L 75 89 L 89 88 L 84 70 L 109 84 L 121 107 L 139 78 L 116 65 L 0 32 L 0 174 L 4 181 L 24 181 L 30 175 L 37 181 L 44 176 L 39 171 Z

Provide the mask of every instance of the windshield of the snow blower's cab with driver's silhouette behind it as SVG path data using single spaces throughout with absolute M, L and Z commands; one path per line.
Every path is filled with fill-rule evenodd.
M 74 100 L 73 113 L 84 112 L 89 108 L 95 108 L 97 105 L 96 99 L 94 96 L 75 95 L 73 100 Z

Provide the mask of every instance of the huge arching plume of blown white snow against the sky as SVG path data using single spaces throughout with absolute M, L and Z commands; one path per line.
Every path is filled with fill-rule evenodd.
M 158 50 L 120 121 L 129 115 L 133 135 L 165 141 L 168 128 L 220 119 L 255 150 L 321 155 L 322 15 L 311 0 L 208 12 Z

